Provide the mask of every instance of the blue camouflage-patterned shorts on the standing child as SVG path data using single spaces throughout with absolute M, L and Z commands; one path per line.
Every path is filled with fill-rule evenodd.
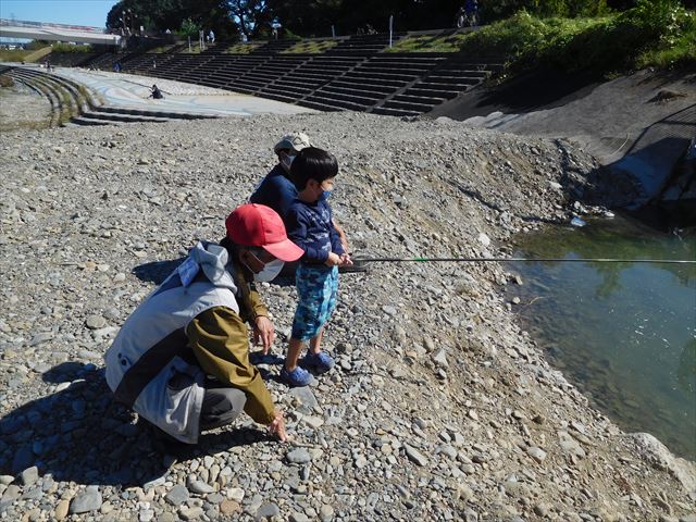
M 300 263 L 295 284 L 299 299 L 293 320 L 293 337 L 308 340 L 321 331 L 336 308 L 338 266 Z

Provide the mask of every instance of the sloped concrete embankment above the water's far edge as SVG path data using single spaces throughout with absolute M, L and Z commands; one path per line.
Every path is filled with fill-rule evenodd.
M 617 207 L 637 208 L 670 188 L 696 134 L 694 78 L 693 73 L 639 71 L 598 82 L 538 72 L 472 91 L 433 115 L 524 136 L 571 139 L 605 165 L 601 196 L 608 194 L 606 200 Z

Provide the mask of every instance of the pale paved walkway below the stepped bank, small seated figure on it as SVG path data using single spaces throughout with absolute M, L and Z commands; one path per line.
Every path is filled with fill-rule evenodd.
M 161 110 L 162 112 L 194 112 L 220 116 L 318 112 L 313 109 L 281 101 L 149 76 L 63 67 L 57 69 L 53 74 L 77 82 L 98 92 L 110 105 L 147 109 L 149 111 Z M 152 84 L 157 84 L 162 90 L 164 94 L 163 100 L 148 98 Z

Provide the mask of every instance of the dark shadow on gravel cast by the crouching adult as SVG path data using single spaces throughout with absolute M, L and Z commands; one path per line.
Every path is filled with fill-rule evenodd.
M 0 474 L 36 465 L 54 481 L 84 485 L 142 486 L 185 461 L 235 446 L 271 440 L 261 430 L 204 433 L 196 446 L 158 430 L 112 400 L 103 369 L 66 362 L 44 374 L 59 391 L 32 400 L 0 419 Z M 63 388 L 63 389 L 61 389 Z

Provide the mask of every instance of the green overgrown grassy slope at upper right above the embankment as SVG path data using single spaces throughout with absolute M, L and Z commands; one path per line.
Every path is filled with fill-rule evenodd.
M 511 70 L 551 65 L 611 74 L 632 69 L 696 66 L 696 16 L 671 0 L 642 1 L 594 18 L 538 18 L 525 12 L 473 33 L 399 41 L 391 52 L 505 55 Z

